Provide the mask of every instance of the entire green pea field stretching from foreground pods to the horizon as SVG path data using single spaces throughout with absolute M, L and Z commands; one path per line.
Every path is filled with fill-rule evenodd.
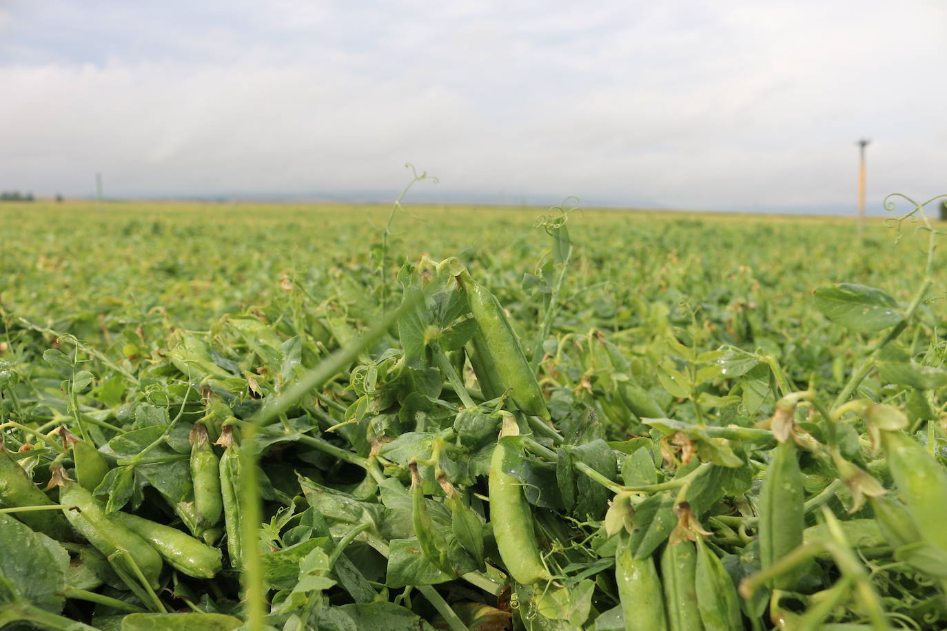
M 0 205 L 0 628 L 947 628 L 939 201 L 571 202 Z

